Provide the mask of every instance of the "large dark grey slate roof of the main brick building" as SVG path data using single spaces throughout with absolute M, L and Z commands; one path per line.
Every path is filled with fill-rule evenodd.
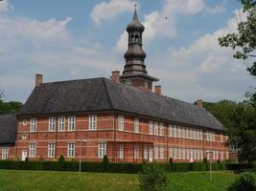
M 20 116 L 93 111 L 122 111 L 193 126 L 223 130 L 221 122 L 192 103 L 158 96 L 107 78 L 42 83 L 22 107 Z

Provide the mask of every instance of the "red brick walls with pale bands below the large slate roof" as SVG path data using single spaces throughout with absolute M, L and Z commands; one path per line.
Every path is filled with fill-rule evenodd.
M 221 132 L 212 134 L 212 140 L 206 140 L 208 132 L 203 130 L 203 137 L 199 139 L 186 138 L 186 131 L 182 138 L 170 135 L 170 124 L 163 122 L 163 135 L 159 136 L 161 121 L 143 117 L 127 115 L 98 114 L 97 129 L 89 130 L 89 116 L 76 116 L 75 131 L 68 131 L 68 115 L 65 116 L 65 130 L 58 131 L 58 120 L 55 131 L 49 131 L 49 117 L 36 117 L 36 131 L 30 132 L 31 117 L 19 118 L 15 148 L 10 149 L 9 159 L 22 159 L 22 153 L 27 152 L 30 159 L 58 159 L 63 155 L 68 158 L 68 144 L 74 143 L 74 159 L 102 161 L 99 158 L 100 143 L 104 143 L 105 154 L 114 162 L 141 162 L 145 160 L 168 161 L 172 157 L 175 161 L 197 161 L 207 157 L 211 159 L 228 159 L 228 148 L 224 145 L 226 137 Z M 124 117 L 124 130 L 120 130 L 120 119 Z M 58 118 L 58 117 L 57 117 Z M 134 132 L 134 120 L 139 120 L 139 131 Z M 158 124 L 158 136 L 150 135 L 150 121 Z M 181 125 L 178 125 L 181 126 Z M 172 124 L 174 130 L 174 124 Z M 193 128 L 196 130 L 195 128 Z M 198 129 L 199 130 L 199 129 Z M 178 135 L 177 135 L 178 136 Z M 35 143 L 35 157 L 30 157 L 30 144 Z M 55 145 L 55 155 L 48 157 L 49 143 Z M 122 152 L 123 150 L 123 152 Z M 1 151 L 2 152 L 2 151 Z M 136 155 L 134 155 L 136 153 Z M 222 153 L 222 154 L 221 154 Z M 123 155 L 122 155 L 123 154 Z M 210 156 L 209 156 L 210 155 Z M 218 155 L 218 156 L 217 156 Z M 193 156 L 193 157 L 191 157 Z M 101 156 L 103 157 L 103 155 Z

